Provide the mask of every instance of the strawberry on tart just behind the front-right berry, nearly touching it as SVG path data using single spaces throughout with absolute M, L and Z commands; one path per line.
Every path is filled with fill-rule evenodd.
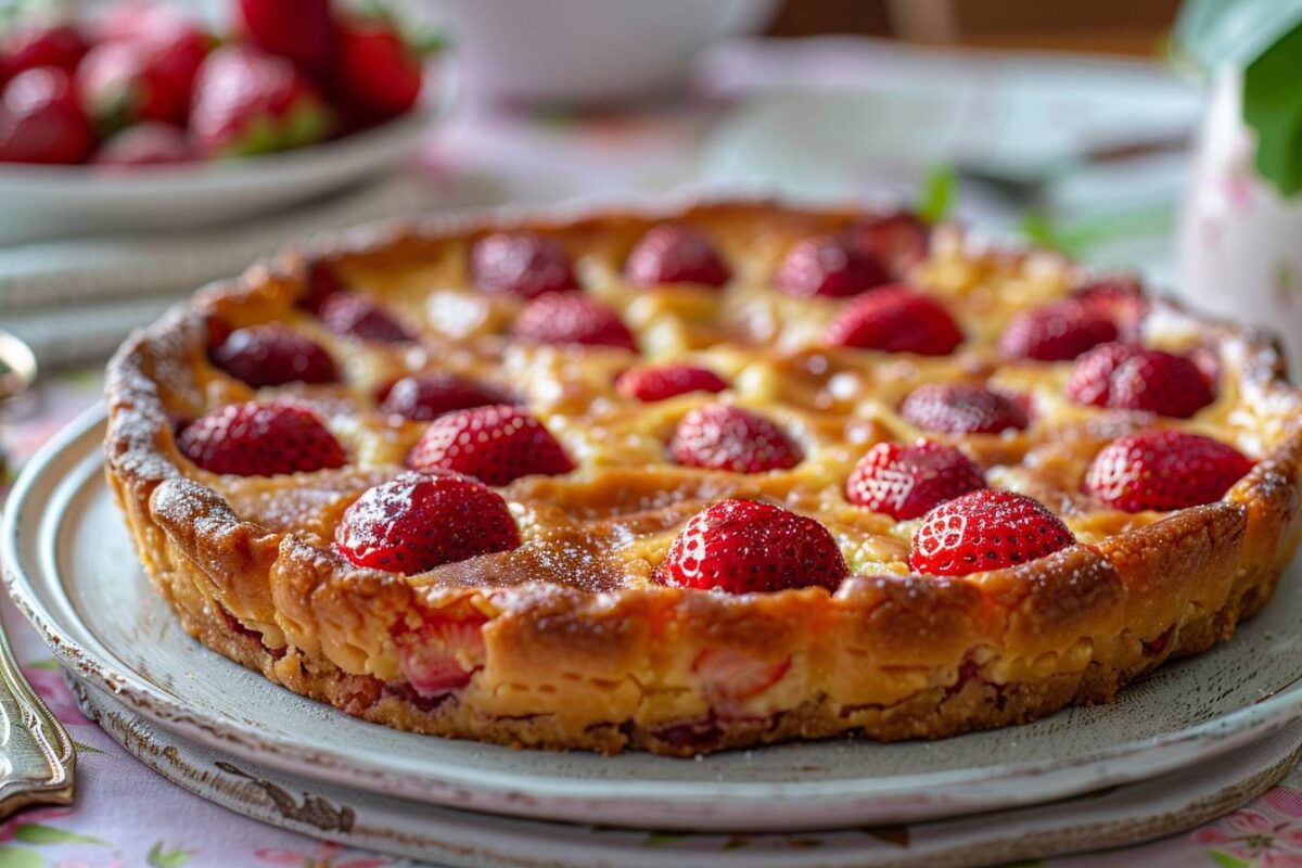
M 907 521 L 984 487 L 980 468 L 953 446 L 928 440 L 911 446 L 879 442 L 854 466 L 845 496 L 858 506 Z

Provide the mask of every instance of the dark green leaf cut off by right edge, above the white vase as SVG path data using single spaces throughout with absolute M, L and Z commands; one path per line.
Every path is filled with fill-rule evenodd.
M 1243 122 L 1256 133 L 1254 164 L 1280 195 L 1302 191 L 1302 26 L 1243 70 Z

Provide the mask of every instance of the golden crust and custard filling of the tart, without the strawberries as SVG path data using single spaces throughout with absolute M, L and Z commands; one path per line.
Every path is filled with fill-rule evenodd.
M 1269 599 L 1298 541 L 1299 393 L 1259 334 L 1157 301 L 1152 346 L 1213 351 L 1216 402 L 1163 426 L 1211 433 L 1258 459 L 1216 504 L 1128 514 L 1077 492 L 1090 457 L 1152 424 L 1143 414 L 1073 406 L 1070 363 L 996 364 L 995 337 L 1019 311 L 1081 278 L 1044 252 L 1001 251 L 943 228 L 910 280 L 944 298 L 969 342 L 931 359 L 818 345 L 836 299 L 771 289 L 798 238 L 849 225 L 852 211 L 721 203 L 673 215 L 598 213 L 512 224 L 560 241 L 587 290 L 617 306 L 643 357 L 689 357 L 727 372 L 737 403 L 797 432 L 806 458 L 755 475 L 677 467 L 663 455 L 676 419 L 713 396 L 656 403 L 612 398 L 622 350 L 526 347 L 501 337 L 517 301 L 466 289 L 466 251 L 497 224 L 393 226 L 289 252 L 211 286 L 134 334 L 109 366 L 109 481 L 158 590 L 202 643 L 289 690 L 401 729 L 522 747 L 639 748 L 693 755 L 858 731 L 939 738 L 1021 724 L 1070 703 L 1108 701 L 1163 661 L 1228 639 Z M 672 217 L 706 229 L 737 269 L 725 293 L 635 290 L 624 256 Z M 310 263 L 419 324 L 419 349 L 328 334 L 297 311 Z M 217 476 L 178 450 L 181 420 L 254 390 L 207 358 L 210 319 L 284 321 L 332 350 L 342 387 L 289 387 L 349 449 L 340 470 Z M 514 552 L 402 576 L 358 569 L 329 547 L 344 509 L 401 467 L 422 429 L 375 413 L 380 384 L 443 367 L 509 383 L 579 468 L 500 489 L 525 543 Z M 874 442 L 917 436 L 896 411 L 922 381 L 979 380 L 1036 401 L 1023 432 L 953 439 L 992 484 L 1048 504 L 1079 543 L 1014 569 L 910 575 L 917 522 L 845 501 Z M 727 596 L 656 584 L 674 532 L 725 496 L 768 496 L 836 536 L 853 578 L 822 588 Z M 421 626 L 482 621 L 464 688 L 422 696 L 404 674 Z M 694 671 L 706 652 L 785 665 L 738 698 Z

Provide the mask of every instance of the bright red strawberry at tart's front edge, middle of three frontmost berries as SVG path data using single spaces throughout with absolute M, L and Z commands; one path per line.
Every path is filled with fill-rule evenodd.
M 655 573 L 676 588 L 756 593 L 823 587 L 850 574 L 825 527 L 781 506 L 724 500 L 697 513 Z

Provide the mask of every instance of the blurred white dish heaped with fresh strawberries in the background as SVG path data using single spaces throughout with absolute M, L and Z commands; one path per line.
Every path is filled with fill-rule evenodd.
M 195 226 L 401 161 L 432 109 L 397 20 L 332 0 L 229 0 L 229 23 L 121 0 L 0 33 L 0 241 Z

